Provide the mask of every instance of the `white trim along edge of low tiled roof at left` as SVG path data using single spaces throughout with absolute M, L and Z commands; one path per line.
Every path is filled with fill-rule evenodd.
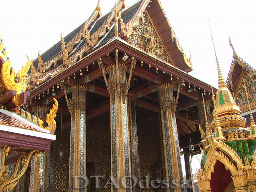
M 28 136 L 32 136 L 32 137 L 39 137 L 39 138 L 43 138 L 43 139 L 47 139 L 47 140 L 56 140 L 56 135 L 53 135 L 53 134 L 31 131 L 31 130 L 17 128 L 17 127 L 11 127 L 11 126 L 7 126 L 7 125 L 0 125 L 0 131 L 18 133 L 18 134 L 28 135 Z

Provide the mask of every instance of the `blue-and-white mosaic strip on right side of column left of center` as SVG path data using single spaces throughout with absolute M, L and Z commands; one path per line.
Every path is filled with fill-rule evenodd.
M 81 110 L 80 112 L 80 178 L 79 178 L 79 192 L 84 192 L 84 164 L 86 164 L 86 160 L 84 159 L 84 150 L 86 150 L 85 145 L 85 129 L 84 129 L 84 110 Z

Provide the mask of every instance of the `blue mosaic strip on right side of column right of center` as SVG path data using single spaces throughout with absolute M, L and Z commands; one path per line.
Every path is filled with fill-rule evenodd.
M 176 153 L 177 153 L 177 158 L 178 158 L 178 166 L 179 166 L 179 172 L 180 172 L 180 183 L 182 183 L 183 174 L 182 174 L 182 167 L 181 167 L 180 144 L 179 144 L 179 137 L 178 137 L 175 113 L 172 114 L 172 129 L 173 129 L 175 148 L 176 148 Z M 184 188 L 181 188 L 181 192 L 184 192 Z

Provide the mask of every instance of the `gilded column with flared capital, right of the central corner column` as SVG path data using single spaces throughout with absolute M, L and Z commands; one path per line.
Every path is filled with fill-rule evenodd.
M 175 110 L 178 103 L 180 88 L 183 81 L 178 84 L 177 96 L 173 96 L 173 84 L 161 84 L 156 87 L 159 95 L 161 121 L 164 144 L 164 175 L 169 181 L 169 187 L 166 190 L 173 192 L 184 191 L 181 188 L 183 181 L 180 146 L 177 132 Z

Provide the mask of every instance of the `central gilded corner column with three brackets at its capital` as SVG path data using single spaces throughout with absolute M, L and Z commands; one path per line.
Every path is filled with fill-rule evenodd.
M 132 57 L 128 78 L 126 78 L 128 66 L 119 62 L 117 49 L 115 51 L 115 61 L 116 63 L 105 68 L 102 60 L 98 60 L 110 95 L 111 191 L 130 192 L 132 191 L 132 170 L 126 96 L 136 59 Z M 105 75 L 106 72 L 108 78 Z

